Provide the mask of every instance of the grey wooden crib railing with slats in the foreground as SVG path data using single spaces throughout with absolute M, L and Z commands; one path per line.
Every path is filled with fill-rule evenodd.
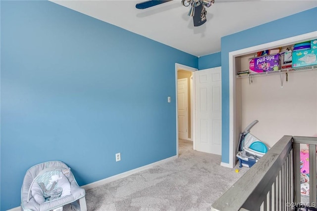
M 212 204 L 211 210 L 294 210 L 301 202 L 300 143 L 310 144 L 310 172 L 313 173 L 310 177 L 316 178 L 317 138 L 285 135 Z M 316 179 L 312 179 L 310 189 L 310 203 L 316 205 Z

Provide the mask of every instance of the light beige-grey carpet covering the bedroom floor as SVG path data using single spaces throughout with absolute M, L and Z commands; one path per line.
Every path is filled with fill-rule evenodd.
M 191 141 L 180 140 L 179 158 L 87 190 L 87 210 L 211 210 L 211 204 L 248 169 L 236 173 L 221 167 L 220 161 L 220 156 L 194 151 Z

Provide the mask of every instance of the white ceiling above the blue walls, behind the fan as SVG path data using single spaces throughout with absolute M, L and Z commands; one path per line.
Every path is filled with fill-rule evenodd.
M 180 0 L 143 10 L 135 4 L 144 0 L 52 1 L 195 56 L 219 52 L 223 36 L 317 6 L 317 0 L 215 0 L 206 8 L 207 22 L 194 27 L 187 15 L 190 7 L 181 5 Z M 296 30 L 292 23 L 275 27 L 285 28 L 285 33 Z

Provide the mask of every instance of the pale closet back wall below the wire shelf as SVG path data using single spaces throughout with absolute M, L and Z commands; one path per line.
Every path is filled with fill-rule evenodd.
M 269 146 L 283 135 L 313 136 L 317 133 L 317 71 L 288 75 L 281 88 L 280 75 L 241 80 L 241 123 L 259 123 L 251 133 Z

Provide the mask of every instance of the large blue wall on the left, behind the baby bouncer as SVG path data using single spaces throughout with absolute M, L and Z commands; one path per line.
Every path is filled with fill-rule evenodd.
M 49 1 L 0 3 L 1 211 L 38 163 L 84 185 L 176 155 L 175 62 L 196 56 Z

